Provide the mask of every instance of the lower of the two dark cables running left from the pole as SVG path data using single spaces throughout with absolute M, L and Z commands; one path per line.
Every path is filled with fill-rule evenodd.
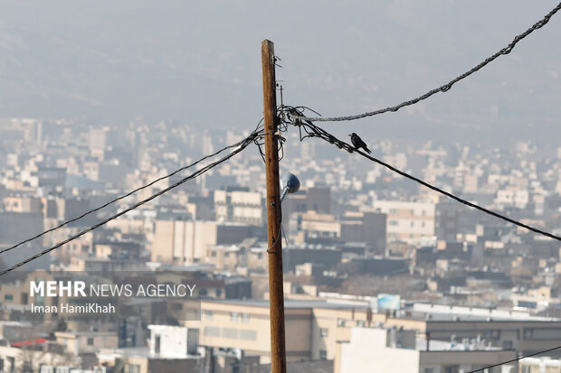
M 96 228 L 100 228 L 102 225 L 107 224 L 109 221 L 113 220 L 113 219 L 117 219 L 120 216 L 126 214 L 128 211 L 130 210 L 135 210 L 137 209 L 139 206 L 142 206 L 143 204 L 147 203 L 150 200 L 154 200 L 155 198 L 161 196 L 162 194 L 166 193 L 167 191 L 171 191 L 172 189 L 175 189 L 176 187 L 178 187 L 179 185 L 183 184 L 184 182 L 188 182 L 192 179 L 195 179 L 195 177 L 198 177 L 200 175 L 202 175 L 203 173 L 206 173 L 207 171 L 209 171 L 210 169 L 214 168 L 215 166 L 217 166 L 218 164 L 221 164 L 227 160 L 229 160 L 230 158 L 232 158 L 234 155 L 241 153 L 243 149 L 245 149 L 248 145 L 252 144 L 252 142 L 256 141 L 259 139 L 259 137 L 262 135 L 262 131 L 254 131 L 252 132 L 251 135 L 247 136 L 245 139 L 243 139 L 241 142 L 237 143 L 237 147 L 229 154 L 224 155 L 222 158 L 220 158 L 218 161 L 215 161 L 214 163 L 209 163 L 206 166 L 204 166 L 203 168 L 201 168 L 200 170 L 196 171 L 195 173 L 191 173 L 189 176 L 186 176 L 185 178 L 181 179 L 180 181 L 168 186 L 166 189 L 163 189 L 161 191 L 158 191 L 155 194 L 152 194 L 150 197 L 148 197 L 145 200 L 141 200 L 138 203 L 135 203 L 134 205 L 128 207 L 125 210 L 120 211 L 119 213 L 112 215 L 111 217 L 109 217 L 108 219 L 104 219 L 102 221 L 100 221 L 99 223 L 91 226 L 90 228 L 84 229 L 81 232 L 71 236 L 70 238 L 67 238 L 61 242 L 59 242 L 58 244 L 46 248 L 44 249 L 42 252 L 35 254 L 34 256 L 28 257 L 27 259 L 15 264 L 14 266 L 11 266 L 7 269 L 5 269 L 4 271 L 0 272 L 0 276 L 1 275 L 5 275 L 8 272 L 14 271 L 14 269 L 20 267 L 20 266 L 24 266 L 27 263 L 37 259 L 40 256 L 43 256 L 45 254 L 50 253 L 52 250 L 58 248 L 58 247 L 62 247 L 63 245 L 68 244 L 69 242 L 71 242 L 72 240 L 76 239 L 76 238 L 80 238 L 81 236 L 83 236 L 84 234 L 92 231 L 93 229 Z

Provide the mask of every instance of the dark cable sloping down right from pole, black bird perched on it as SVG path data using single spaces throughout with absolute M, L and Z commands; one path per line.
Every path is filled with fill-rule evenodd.
M 421 180 L 417 177 L 414 177 L 413 175 L 410 175 L 409 173 L 404 173 L 403 171 L 396 169 L 394 166 L 392 166 L 388 163 L 380 161 L 379 159 L 376 159 L 375 157 L 373 157 L 369 154 L 366 154 L 366 153 L 364 153 L 360 150 L 357 150 L 354 146 L 348 145 L 346 142 L 339 140 L 336 136 L 329 134 L 327 131 L 320 128 L 319 126 L 315 126 L 315 125 L 313 125 L 312 123 L 309 123 L 309 122 L 303 123 L 298 117 L 296 117 L 294 119 L 294 125 L 298 126 L 300 128 L 300 141 L 303 140 L 306 137 L 319 137 L 320 139 L 325 140 L 330 144 L 336 145 L 339 149 L 346 150 L 348 153 L 355 152 L 357 154 L 360 154 L 363 157 L 369 159 L 370 161 L 381 164 L 385 168 L 393 171 L 394 173 L 399 173 L 400 175 L 406 177 L 407 179 L 413 180 L 414 182 L 418 182 L 421 185 L 423 185 L 423 186 L 425 186 L 429 189 L 432 189 L 433 191 L 438 191 L 439 193 L 441 193 L 441 194 L 443 194 L 447 197 L 452 198 L 452 200 L 457 200 L 457 201 L 463 203 L 464 205 L 467 205 L 467 206 L 469 206 L 473 209 L 483 211 L 486 214 L 494 216 L 495 218 L 506 220 L 509 223 L 517 225 L 518 227 L 526 228 L 528 230 L 531 230 L 532 232 L 538 233 L 538 234 L 546 236 L 548 238 L 554 238 L 556 240 L 561 241 L 561 237 L 559 237 L 559 236 L 556 236 L 552 233 L 546 232 L 546 231 L 538 229 L 538 228 L 528 226 L 527 224 L 524 224 L 524 223 L 522 223 L 518 220 L 510 219 L 509 217 L 501 215 L 498 212 L 495 212 L 493 210 L 485 209 L 485 208 L 483 208 L 479 205 L 476 205 L 475 203 L 470 202 L 469 200 L 463 200 L 460 197 L 458 197 L 458 196 L 456 196 L 456 195 L 454 195 L 454 194 L 452 194 L 448 191 L 443 191 L 442 189 L 440 189 L 438 187 L 435 187 L 434 185 L 429 184 L 428 182 L 424 182 L 423 180 Z M 302 135 L 302 132 L 301 132 L 302 129 L 304 130 L 305 135 Z

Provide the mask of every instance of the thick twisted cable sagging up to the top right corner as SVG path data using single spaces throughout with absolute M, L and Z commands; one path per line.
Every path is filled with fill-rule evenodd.
M 549 12 L 548 14 L 546 14 L 546 16 L 544 16 L 544 18 L 542 18 L 541 20 L 539 20 L 537 23 L 534 23 L 534 25 L 532 27 L 530 27 L 528 30 L 526 30 L 524 33 L 520 33 L 519 35 L 517 35 L 512 42 L 509 43 L 509 45 L 507 45 L 505 48 L 501 49 L 500 51 L 496 52 L 495 54 L 491 55 L 490 57 L 488 57 L 487 59 L 485 59 L 485 61 L 480 62 L 480 64 L 478 64 L 477 66 L 475 66 L 474 68 L 472 68 L 471 70 L 468 70 L 466 72 L 464 72 L 463 74 L 461 74 L 460 76 L 452 79 L 451 81 L 449 81 L 448 83 L 442 85 L 441 87 L 438 87 L 436 89 L 432 89 L 429 90 L 428 92 L 426 92 L 424 95 L 419 96 L 417 98 L 413 98 L 410 99 L 408 101 L 404 101 L 399 105 L 395 105 L 394 107 L 385 107 L 382 109 L 378 109 L 375 111 L 369 111 L 363 114 L 357 114 L 354 116 L 347 116 L 347 117 L 310 117 L 309 120 L 314 121 L 314 122 L 341 122 L 344 120 L 355 120 L 355 119 L 361 119 L 364 117 L 373 117 L 376 116 L 378 114 L 383 114 L 383 113 L 387 113 L 388 111 L 397 111 L 402 107 L 408 107 L 411 105 L 416 104 L 419 101 L 422 101 L 423 99 L 426 98 L 430 98 L 431 96 L 433 96 L 435 93 L 438 92 L 447 92 L 449 89 L 452 88 L 452 86 L 457 83 L 458 81 L 460 81 L 461 79 L 465 79 L 467 77 L 469 77 L 471 74 L 473 74 L 474 72 L 480 70 L 481 68 L 483 68 L 484 66 L 486 66 L 487 64 L 489 64 L 491 61 L 494 61 L 495 59 L 497 59 L 499 56 L 503 55 L 503 54 L 509 54 L 510 51 L 512 51 L 515 47 L 515 45 L 521 41 L 522 39 L 524 39 L 525 37 L 527 37 L 530 33 L 533 33 L 534 31 L 536 31 L 537 29 L 542 28 L 543 26 L 546 25 L 547 22 L 549 22 L 549 19 L 556 14 L 559 9 L 561 9 L 561 3 L 559 3 L 555 8 L 553 8 L 553 10 L 551 12 Z

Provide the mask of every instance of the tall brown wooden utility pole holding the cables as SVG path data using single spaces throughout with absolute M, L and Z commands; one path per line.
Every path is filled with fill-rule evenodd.
M 269 306 L 271 318 L 271 373 L 286 373 L 284 292 L 282 290 L 281 185 L 277 141 L 277 99 L 273 43 L 261 43 L 267 178 L 267 233 L 269 235 Z

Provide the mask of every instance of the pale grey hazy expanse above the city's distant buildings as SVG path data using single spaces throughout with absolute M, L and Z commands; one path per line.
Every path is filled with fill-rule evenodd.
M 261 41 L 285 102 L 324 116 L 394 105 L 507 45 L 556 1 L 5 1 L 0 117 L 142 116 L 251 129 Z M 339 135 L 561 136 L 561 14 L 470 79 L 396 114 L 328 124 Z

